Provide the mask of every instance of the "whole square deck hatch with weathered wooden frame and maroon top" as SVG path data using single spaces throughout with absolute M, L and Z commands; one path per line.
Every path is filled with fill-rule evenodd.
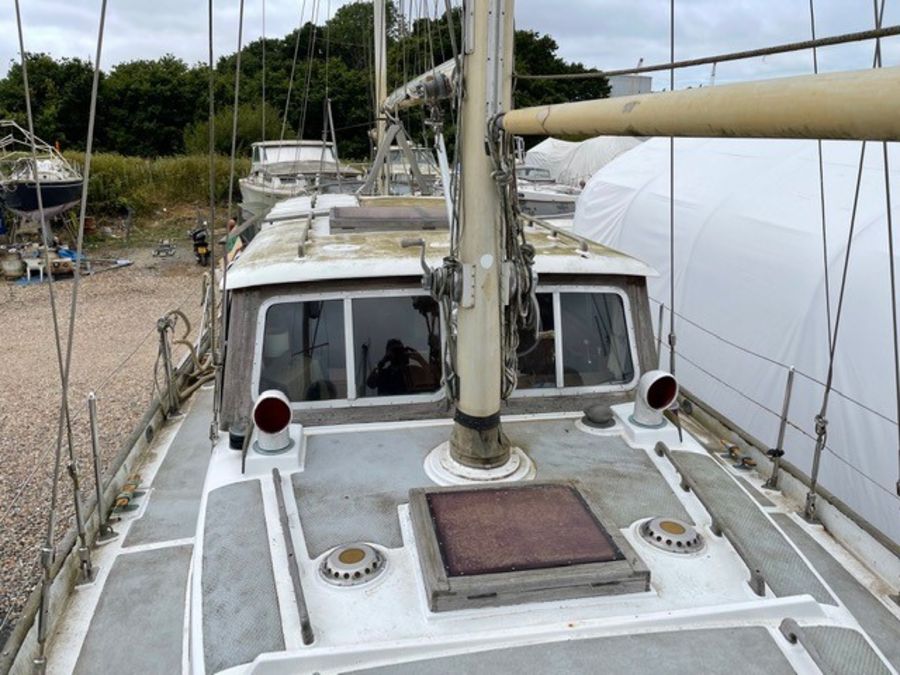
M 574 483 L 415 489 L 409 504 L 432 611 L 650 587 L 616 523 Z

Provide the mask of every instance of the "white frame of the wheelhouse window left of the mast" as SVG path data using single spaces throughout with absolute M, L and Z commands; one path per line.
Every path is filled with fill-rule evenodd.
M 259 378 L 262 374 L 262 349 L 266 330 L 266 313 L 273 305 L 291 304 L 297 302 L 319 302 L 326 300 L 340 300 L 343 306 L 344 318 L 344 358 L 347 368 L 347 396 L 343 398 L 331 398 L 324 401 L 291 401 L 292 410 L 316 410 L 333 408 L 335 405 L 341 408 L 356 408 L 367 406 L 402 405 L 406 403 L 436 403 L 444 399 L 444 387 L 439 386 L 430 394 L 404 394 L 402 396 L 364 396 L 358 398 L 356 394 L 356 354 L 353 343 L 353 301 L 366 298 L 403 298 L 415 296 L 428 296 L 420 288 L 391 288 L 369 291 L 333 291 L 322 293 L 291 293 L 276 295 L 266 299 L 260 306 L 256 320 L 256 344 L 253 350 L 253 367 L 250 377 L 250 400 L 255 404 L 259 398 Z M 440 317 L 441 352 L 446 346 L 446 326 L 444 317 Z M 443 363 L 442 363 L 443 371 Z M 441 373 L 443 379 L 443 372 Z

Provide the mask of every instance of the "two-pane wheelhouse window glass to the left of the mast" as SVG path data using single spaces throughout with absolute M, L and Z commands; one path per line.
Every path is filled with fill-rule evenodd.
M 265 310 L 257 393 L 294 403 L 432 398 L 441 388 L 441 321 L 428 296 L 275 302 Z

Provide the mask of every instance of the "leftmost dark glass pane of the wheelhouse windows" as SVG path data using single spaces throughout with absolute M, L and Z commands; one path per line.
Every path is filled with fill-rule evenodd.
M 347 397 L 341 300 L 272 305 L 266 312 L 259 391 L 279 389 L 291 401 Z

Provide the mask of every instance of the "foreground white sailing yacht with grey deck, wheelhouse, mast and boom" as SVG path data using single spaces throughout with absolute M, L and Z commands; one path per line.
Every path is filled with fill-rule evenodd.
M 269 216 L 216 388 L 168 373 L 146 494 L 15 672 L 897 672 L 896 552 L 672 410 L 655 272 L 521 214 L 512 135 L 895 141 L 900 71 L 512 110 L 513 2 L 463 14 L 447 229 Z

